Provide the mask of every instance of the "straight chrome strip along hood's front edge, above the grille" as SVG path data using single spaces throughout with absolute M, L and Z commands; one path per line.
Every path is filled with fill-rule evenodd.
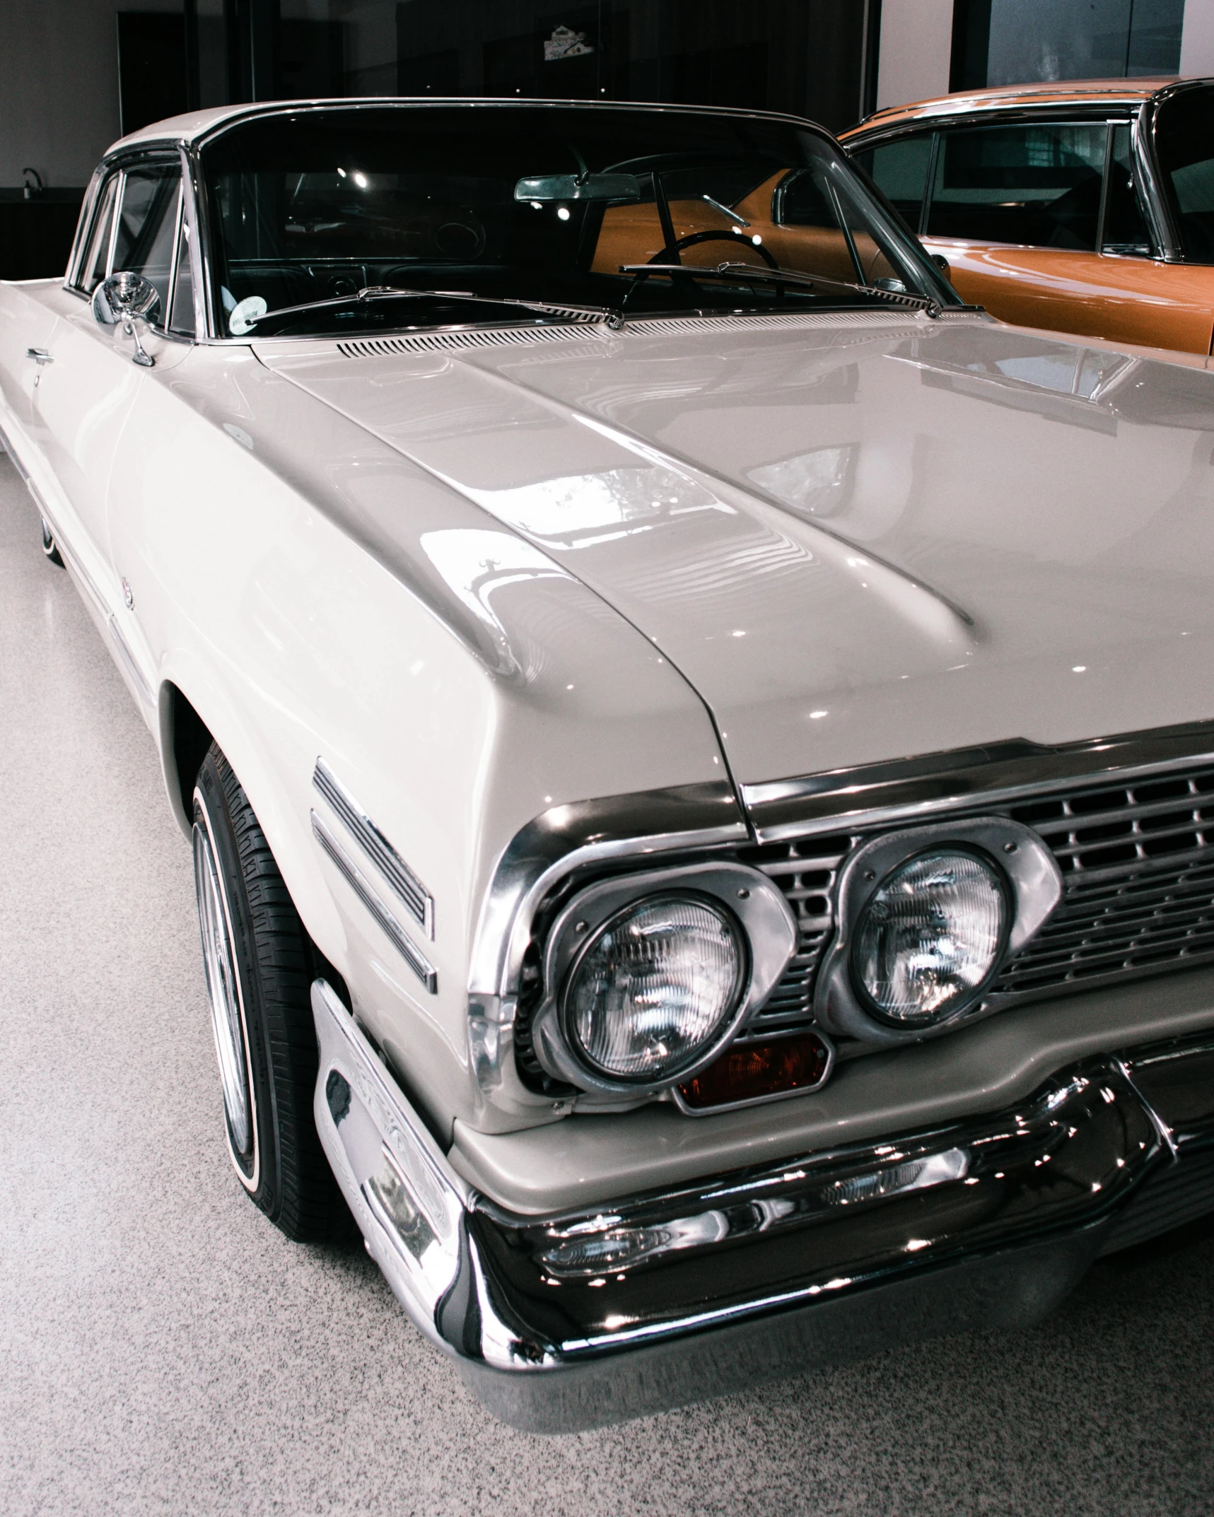
M 1178 763 L 1214 763 L 1214 721 L 1118 733 L 1074 743 L 1015 737 L 983 748 L 918 754 L 854 769 L 744 784 L 742 802 L 759 842 L 782 842 L 851 825 L 930 818 L 988 806 L 1074 780 L 1134 778 Z

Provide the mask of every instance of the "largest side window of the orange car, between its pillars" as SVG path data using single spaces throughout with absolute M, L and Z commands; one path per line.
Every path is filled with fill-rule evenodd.
M 942 132 L 927 235 L 1094 252 L 1106 133 L 1062 121 Z

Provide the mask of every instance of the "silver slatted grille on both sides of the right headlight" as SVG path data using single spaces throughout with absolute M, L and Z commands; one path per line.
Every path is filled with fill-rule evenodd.
M 1062 871 L 1062 903 L 1011 959 L 992 998 L 1038 998 L 1214 960 L 1214 768 L 1109 786 L 1059 789 L 976 813 L 1032 827 Z M 838 871 L 863 833 L 747 850 L 777 881 L 800 925 L 798 953 L 750 1024 L 810 1018 L 833 930 Z

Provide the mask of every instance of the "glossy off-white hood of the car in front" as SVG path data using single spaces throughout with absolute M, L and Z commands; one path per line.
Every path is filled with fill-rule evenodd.
M 649 637 L 739 783 L 1214 718 L 1200 369 L 880 313 L 259 356 Z

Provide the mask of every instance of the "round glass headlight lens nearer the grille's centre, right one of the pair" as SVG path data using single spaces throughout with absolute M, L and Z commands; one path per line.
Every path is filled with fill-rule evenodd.
M 942 1021 L 985 989 L 1008 921 L 1003 878 L 977 854 L 909 859 L 860 913 L 851 944 L 856 988 L 895 1027 Z

